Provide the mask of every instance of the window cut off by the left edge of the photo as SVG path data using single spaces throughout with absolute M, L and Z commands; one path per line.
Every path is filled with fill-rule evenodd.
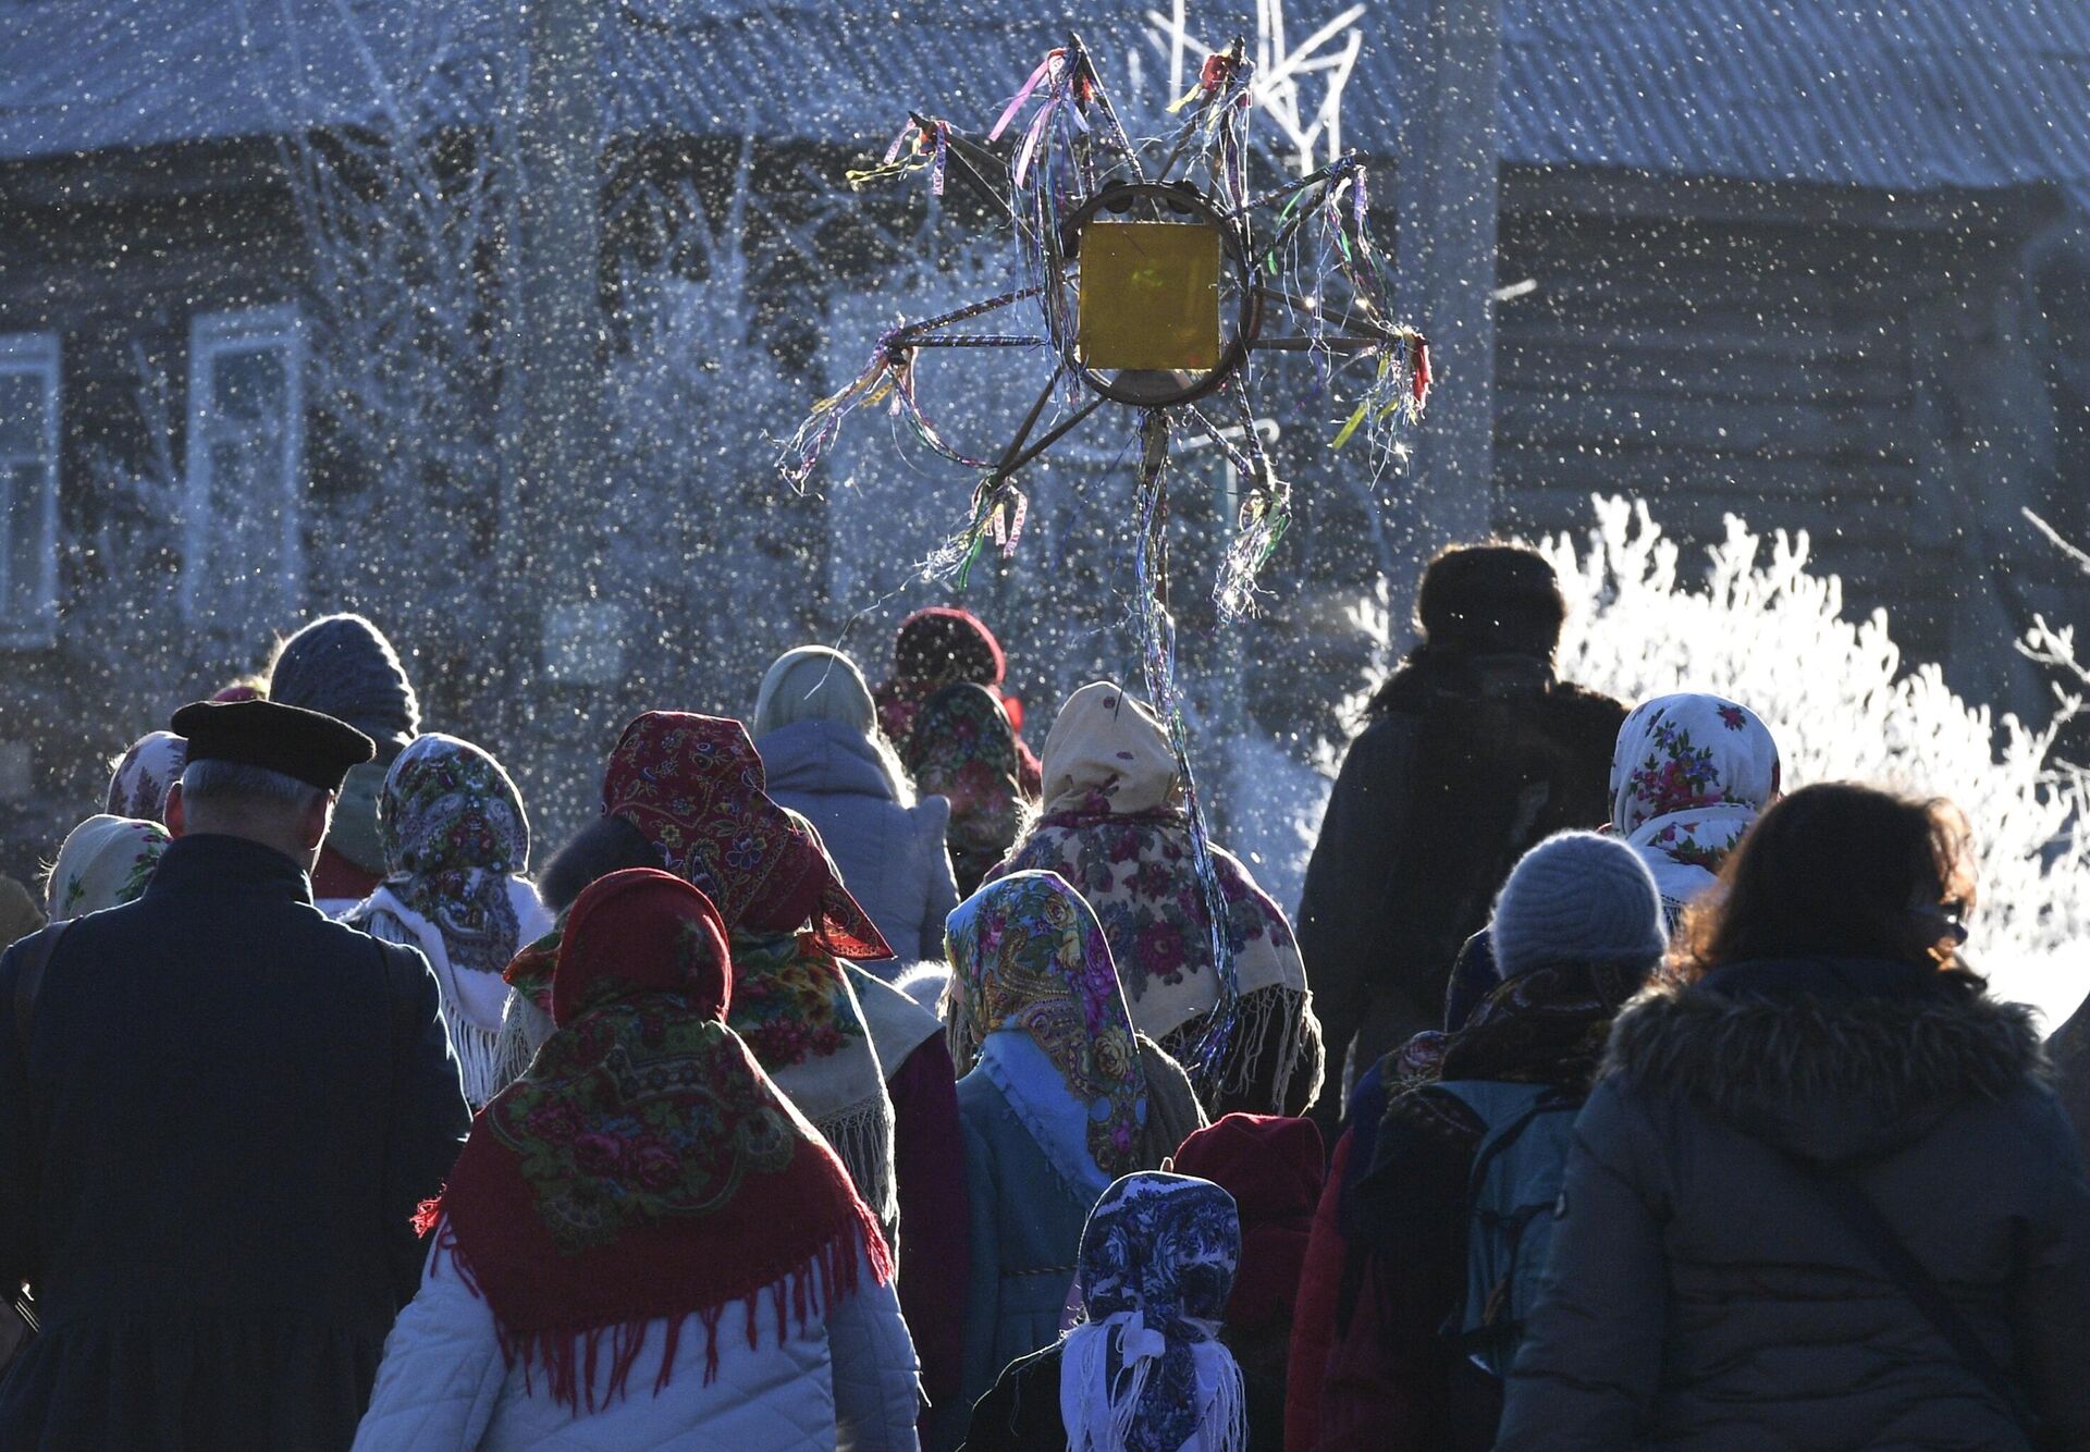
M 0 332 L 0 646 L 59 635 L 59 338 Z

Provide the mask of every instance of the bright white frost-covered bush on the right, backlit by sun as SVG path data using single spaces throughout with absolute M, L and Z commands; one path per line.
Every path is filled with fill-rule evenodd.
M 1624 702 L 1708 689 L 1756 708 L 1776 731 L 1787 788 L 1858 779 L 1948 796 L 1973 825 L 1981 907 L 1969 959 L 2006 997 L 2038 1003 L 2059 1024 L 2084 988 L 2090 942 L 2090 779 L 2052 754 L 2073 700 L 2027 725 L 1960 700 L 1935 664 L 1906 666 L 1875 610 L 1845 618 L 1843 585 L 1808 568 L 1806 533 L 1768 539 L 1737 518 L 1699 581 L 1680 570 L 1643 503 L 1597 499 L 1580 543 L 1538 541 L 1568 595 L 1561 675 Z M 1384 598 L 1356 625 L 1392 656 Z M 2065 631 L 2034 631 L 2021 648 L 2063 669 Z M 1356 719 L 1361 689 L 1346 719 Z M 1333 775 L 1342 744 L 1323 744 Z M 1321 798 L 1296 817 L 1298 857 L 1313 844 Z

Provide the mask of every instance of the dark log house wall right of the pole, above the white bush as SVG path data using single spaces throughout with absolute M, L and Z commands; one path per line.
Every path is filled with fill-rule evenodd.
M 2052 439 L 2013 399 L 2027 389 L 1994 384 L 2036 366 L 2008 303 L 2050 203 L 1524 173 L 1503 205 L 1499 280 L 1536 284 L 1501 307 L 1505 529 L 1582 531 L 1588 495 L 1639 495 L 1687 566 L 1728 514 L 1806 529 L 1910 660 L 1983 700 L 2042 694 L 2008 652 L 2029 614 L 2004 629 L 2023 612 L 1975 595 L 1998 558 L 2061 570 L 1988 529 L 2017 514 L 2002 481 L 2027 501 L 2057 487 Z

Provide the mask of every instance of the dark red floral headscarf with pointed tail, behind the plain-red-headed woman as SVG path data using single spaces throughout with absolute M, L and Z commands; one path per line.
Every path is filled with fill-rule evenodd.
M 786 934 L 811 921 L 828 953 L 892 957 L 819 842 L 769 798 L 763 758 L 738 721 L 637 717 L 602 773 L 602 813 L 629 821 L 671 873 L 704 888 L 732 932 Z

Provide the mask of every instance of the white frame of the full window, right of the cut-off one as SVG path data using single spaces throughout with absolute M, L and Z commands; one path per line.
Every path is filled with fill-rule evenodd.
M 211 558 L 211 366 L 224 353 L 249 353 L 257 347 L 284 351 L 284 420 L 282 420 L 282 499 L 278 518 L 280 579 L 286 585 L 286 606 L 297 606 L 305 593 L 305 545 L 301 495 L 305 481 L 305 324 L 295 305 L 240 307 L 234 311 L 196 313 L 188 320 L 188 447 L 186 508 L 182 549 L 182 618 L 196 614 L 196 593 L 209 589 Z

